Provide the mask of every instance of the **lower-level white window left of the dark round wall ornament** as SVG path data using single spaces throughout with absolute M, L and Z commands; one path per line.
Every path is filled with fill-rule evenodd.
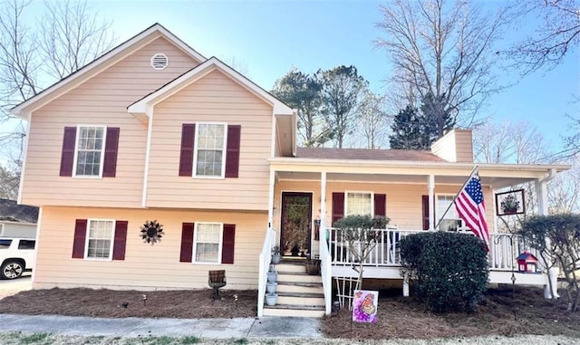
M 114 235 L 114 220 L 89 219 L 84 257 L 87 259 L 111 259 Z

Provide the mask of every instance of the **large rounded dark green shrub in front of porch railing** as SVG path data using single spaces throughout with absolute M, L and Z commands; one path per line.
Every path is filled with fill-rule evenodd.
M 476 311 L 488 283 L 485 244 L 468 234 L 426 232 L 401 238 L 401 264 L 431 311 Z

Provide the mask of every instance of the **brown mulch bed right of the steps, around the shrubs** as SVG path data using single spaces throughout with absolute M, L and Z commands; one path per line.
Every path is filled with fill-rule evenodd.
M 333 338 L 431 339 L 485 335 L 548 334 L 580 337 L 580 312 L 544 299 L 537 288 L 490 289 L 478 312 L 436 315 L 401 291 L 380 292 L 377 323 L 353 323 L 342 310 L 324 318 L 323 331 Z

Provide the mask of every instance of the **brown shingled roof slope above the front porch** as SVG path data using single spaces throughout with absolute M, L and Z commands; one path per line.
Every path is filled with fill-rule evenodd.
M 411 160 L 420 162 L 445 162 L 430 151 L 406 149 L 330 149 L 298 148 L 296 158 L 316 159 L 372 159 L 372 160 Z

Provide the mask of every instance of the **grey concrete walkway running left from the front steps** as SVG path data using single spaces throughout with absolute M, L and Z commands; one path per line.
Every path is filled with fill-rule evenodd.
M 320 321 L 310 318 L 261 319 L 104 319 L 82 316 L 0 314 L 0 331 L 80 336 L 196 336 L 228 338 L 323 338 Z

